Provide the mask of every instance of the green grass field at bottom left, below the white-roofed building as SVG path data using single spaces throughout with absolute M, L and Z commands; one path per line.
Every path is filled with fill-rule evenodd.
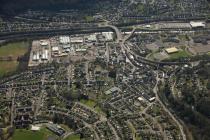
M 53 134 L 46 128 L 42 128 L 40 131 L 30 131 L 25 129 L 16 129 L 11 140 L 47 140 L 48 136 Z

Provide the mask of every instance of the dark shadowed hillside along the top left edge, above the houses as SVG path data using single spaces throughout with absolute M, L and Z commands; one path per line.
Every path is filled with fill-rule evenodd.
M 71 8 L 91 8 L 98 2 L 119 0 L 2 0 L 0 4 L 0 13 L 15 15 L 27 9 L 61 10 Z

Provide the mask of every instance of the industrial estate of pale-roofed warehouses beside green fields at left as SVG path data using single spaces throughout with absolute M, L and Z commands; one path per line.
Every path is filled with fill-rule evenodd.
M 95 44 L 100 42 L 100 39 L 101 43 L 113 41 L 113 32 L 62 35 L 44 40 L 34 40 L 28 66 L 38 66 L 53 60 L 60 61 L 66 56 L 74 60 L 79 60 L 85 55 L 94 58 Z

